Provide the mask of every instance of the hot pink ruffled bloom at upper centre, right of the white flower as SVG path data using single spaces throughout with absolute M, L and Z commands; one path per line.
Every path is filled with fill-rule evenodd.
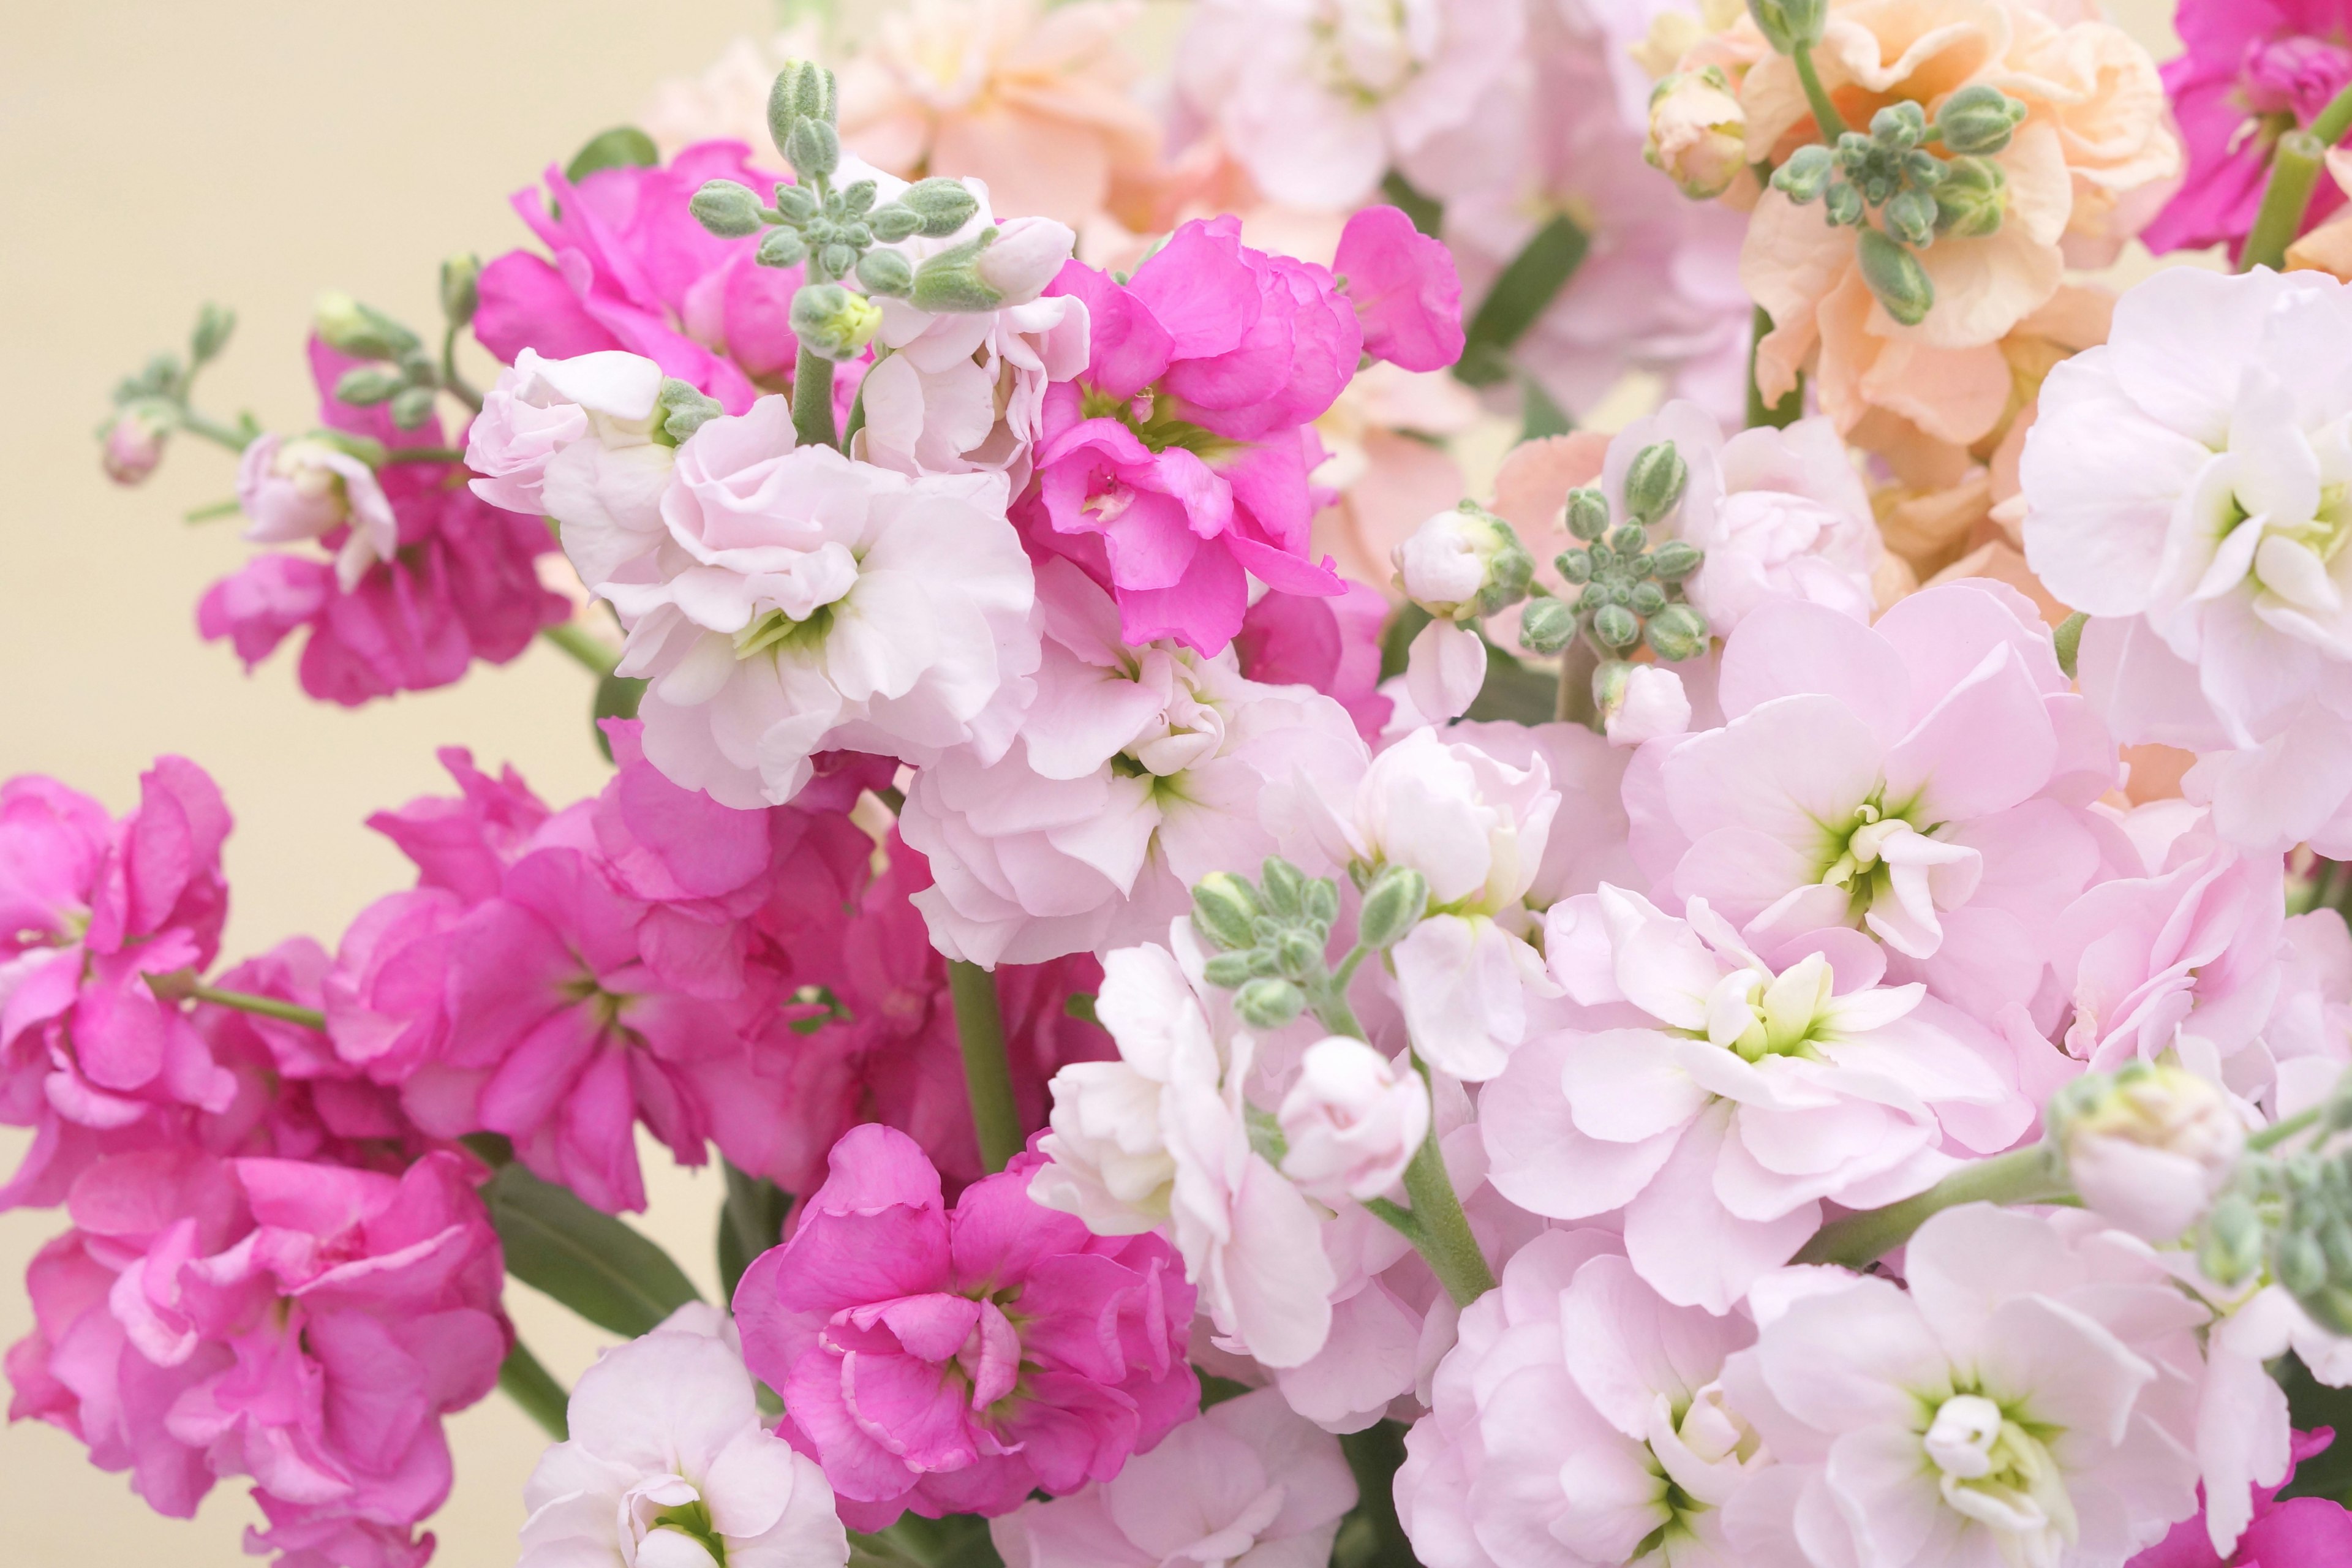
M 1214 219 L 1178 228 L 1124 284 L 1073 261 L 1049 292 L 1087 303 L 1091 353 L 1077 381 L 1047 388 L 1021 520 L 1112 590 L 1124 639 L 1216 654 L 1242 628 L 1249 576 L 1336 595 L 1305 559 L 1322 451 L 1303 430 L 1362 355 L 1331 275 Z

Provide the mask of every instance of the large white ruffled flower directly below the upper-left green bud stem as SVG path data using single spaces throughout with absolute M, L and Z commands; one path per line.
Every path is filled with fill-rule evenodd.
M 757 809 L 821 750 L 1002 755 L 1037 668 L 1002 475 L 795 451 L 783 397 L 677 451 L 661 550 L 597 588 L 628 628 L 621 675 L 652 682 L 644 755 L 668 778 Z

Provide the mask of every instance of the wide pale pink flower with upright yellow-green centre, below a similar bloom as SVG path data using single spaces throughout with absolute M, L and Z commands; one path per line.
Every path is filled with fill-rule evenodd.
M 1491 1180 L 1573 1220 L 1625 1208 L 1635 1269 L 1726 1312 L 1820 1204 L 1875 1208 L 2009 1147 L 2034 1105 L 2009 1048 L 1882 950 L 1820 931 L 1766 961 L 1700 898 L 1689 919 L 1604 886 L 1552 905 L 1545 957 L 1583 1013 L 1479 1100 Z M 1999 1063 L 1999 1065 L 1997 1065 Z

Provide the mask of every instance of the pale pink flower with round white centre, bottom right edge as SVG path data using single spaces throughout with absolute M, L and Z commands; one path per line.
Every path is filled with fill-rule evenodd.
M 2201 1307 L 1985 1204 L 1922 1225 L 1905 1274 L 1910 1293 L 1813 1288 L 1729 1359 L 1731 1406 L 1776 1458 L 1729 1505 L 1736 1561 L 2119 1563 L 2197 1509 L 2143 1352 Z

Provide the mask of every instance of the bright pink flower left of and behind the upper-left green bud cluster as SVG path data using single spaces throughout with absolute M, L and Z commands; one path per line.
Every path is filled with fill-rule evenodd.
M 703 141 L 666 167 L 597 169 L 576 186 L 550 167 L 548 197 L 517 190 L 515 212 L 555 259 L 506 252 L 482 268 L 475 336 L 508 364 L 524 348 L 550 360 L 626 348 L 741 414 L 757 381 L 793 371 L 800 268 L 755 266 L 757 240 L 720 240 L 687 200 L 710 179 L 762 195 L 790 183 L 748 160 L 741 141 Z

